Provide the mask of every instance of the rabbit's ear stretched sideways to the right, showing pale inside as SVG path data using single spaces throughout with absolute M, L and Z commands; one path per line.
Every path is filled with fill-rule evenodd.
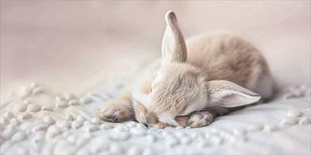
M 243 106 L 261 98 L 259 94 L 226 80 L 211 80 L 207 83 L 207 87 L 209 100 L 213 106 Z

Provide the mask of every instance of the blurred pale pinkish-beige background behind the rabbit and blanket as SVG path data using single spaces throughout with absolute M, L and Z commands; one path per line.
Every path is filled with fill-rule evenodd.
M 310 1 L 1 1 L 1 101 L 33 81 L 81 94 L 143 67 L 160 57 L 168 10 L 186 39 L 221 30 L 250 40 L 278 89 L 310 85 Z

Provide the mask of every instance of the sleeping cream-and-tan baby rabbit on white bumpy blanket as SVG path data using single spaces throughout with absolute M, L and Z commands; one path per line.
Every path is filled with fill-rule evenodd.
M 109 122 L 138 120 L 149 128 L 213 122 L 215 107 L 252 104 L 272 95 L 266 60 L 252 44 L 233 35 L 184 41 L 175 13 L 165 14 L 162 60 L 140 85 L 107 101 L 95 114 Z M 260 94 L 260 95 L 259 95 Z

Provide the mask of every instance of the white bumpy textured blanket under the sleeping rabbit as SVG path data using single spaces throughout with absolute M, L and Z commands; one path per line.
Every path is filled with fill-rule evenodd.
M 303 94 L 310 88 L 290 89 L 286 96 L 308 97 L 250 106 L 204 128 L 160 130 L 93 116 L 93 109 L 120 89 L 105 85 L 76 97 L 49 93 L 35 83 L 21 87 L 1 104 L 1 154 L 311 153 L 310 94 Z

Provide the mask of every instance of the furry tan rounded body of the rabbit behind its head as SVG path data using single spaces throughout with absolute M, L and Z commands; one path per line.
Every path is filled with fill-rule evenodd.
M 252 44 L 235 35 L 223 33 L 190 39 L 187 62 L 202 68 L 209 80 L 235 82 L 263 99 L 272 95 L 272 77 L 266 60 Z

